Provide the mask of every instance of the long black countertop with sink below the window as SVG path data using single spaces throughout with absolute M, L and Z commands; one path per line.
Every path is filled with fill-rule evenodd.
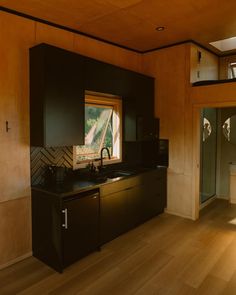
M 114 168 L 113 168 L 114 169 Z M 113 183 L 116 181 L 120 181 L 129 177 L 134 177 L 135 175 L 145 173 L 151 170 L 163 170 L 166 167 L 163 166 L 156 166 L 156 167 L 123 167 L 123 170 L 128 170 L 130 172 L 129 175 L 119 176 L 119 177 L 91 177 L 87 175 L 73 175 L 68 178 L 63 183 L 54 183 L 54 184 L 38 184 L 33 185 L 31 188 L 32 190 L 41 191 L 50 195 L 59 196 L 59 197 L 66 197 L 70 195 L 74 195 L 80 192 L 98 189 L 102 185 L 106 185 L 109 183 Z

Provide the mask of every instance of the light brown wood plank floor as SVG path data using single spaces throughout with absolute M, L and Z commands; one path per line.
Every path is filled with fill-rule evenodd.
M 235 295 L 236 205 L 198 221 L 163 214 L 58 274 L 31 257 L 0 271 L 0 294 Z

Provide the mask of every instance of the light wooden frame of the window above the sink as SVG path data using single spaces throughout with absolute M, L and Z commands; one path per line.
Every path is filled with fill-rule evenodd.
M 93 105 L 93 106 L 104 106 L 113 108 L 113 116 L 112 116 L 112 126 L 114 134 L 116 138 L 113 137 L 113 154 L 115 154 L 115 158 L 111 159 L 104 158 L 103 164 L 109 165 L 114 163 L 122 162 L 122 100 L 121 97 L 104 94 L 104 93 L 96 93 L 96 92 L 85 92 L 85 106 Z M 85 168 L 89 163 L 94 162 L 95 166 L 100 165 L 100 161 L 97 160 L 84 160 L 81 162 L 77 162 L 77 152 L 76 147 L 73 146 L 73 169 Z

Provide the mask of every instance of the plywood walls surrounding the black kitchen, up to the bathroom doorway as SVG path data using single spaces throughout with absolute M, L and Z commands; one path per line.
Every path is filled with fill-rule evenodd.
M 0 38 L 0 236 L 7 235 L 0 243 L 0 268 L 31 251 L 28 49 L 41 42 L 156 77 L 155 114 L 161 137 L 170 140 L 168 211 L 193 217 L 198 116 L 189 94 L 190 44 L 141 56 L 5 12 L 0 12 Z

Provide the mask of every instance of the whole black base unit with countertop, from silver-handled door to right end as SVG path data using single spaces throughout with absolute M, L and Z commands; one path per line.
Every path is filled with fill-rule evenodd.
M 166 207 L 166 168 L 32 187 L 33 255 L 58 272 Z

